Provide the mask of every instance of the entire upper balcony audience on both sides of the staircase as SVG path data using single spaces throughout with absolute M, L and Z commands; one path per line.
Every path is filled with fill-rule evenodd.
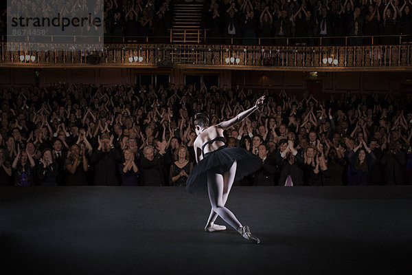
M 62 16 L 89 10 L 90 1 L 38 1 L 26 5 L 11 1 L 10 15 Z M 168 43 L 173 10 L 170 0 L 96 0 L 93 10 L 104 10 L 108 43 Z M 402 34 L 412 41 L 412 0 L 209 0 L 202 28 L 208 43 L 319 45 L 323 36 L 351 36 L 347 43 L 370 44 L 371 38 Z M 0 34 L 6 34 L 6 7 L 0 8 Z M 85 28 L 83 34 L 93 34 Z M 155 36 L 155 37 L 152 37 Z M 161 38 L 163 36 L 163 39 Z M 165 36 L 165 37 L 164 37 Z M 310 39 L 308 39 L 310 38 Z M 315 39 L 313 39 L 315 38 Z M 58 38 L 56 38 L 58 41 Z M 56 42 L 56 39 L 54 40 Z M 275 39 L 272 41 L 271 39 Z M 398 43 L 396 37 L 375 37 L 374 44 Z M 344 38 L 323 39 L 323 45 L 341 45 Z

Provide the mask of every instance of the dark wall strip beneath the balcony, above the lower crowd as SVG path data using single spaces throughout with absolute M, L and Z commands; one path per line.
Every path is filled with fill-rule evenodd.
M 35 72 L 38 72 L 36 76 Z M 369 93 L 412 93 L 411 72 L 281 72 L 281 71 L 242 71 L 147 68 L 0 68 L 0 85 L 40 85 L 54 83 L 74 83 L 93 85 L 133 84 L 136 75 L 170 74 L 175 84 L 184 84 L 186 75 L 218 75 L 221 87 L 236 87 L 253 91 L 265 89 L 289 93 L 322 94 L 352 92 Z M 322 96 L 321 96 L 322 97 Z

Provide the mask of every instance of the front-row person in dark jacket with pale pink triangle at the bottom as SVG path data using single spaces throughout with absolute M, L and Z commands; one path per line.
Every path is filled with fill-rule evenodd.
M 284 159 L 286 155 L 286 159 Z M 293 147 L 293 141 L 288 141 L 288 147 L 276 155 L 275 162 L 281 169 L 279 186 L 303 186 L 304 159 Z

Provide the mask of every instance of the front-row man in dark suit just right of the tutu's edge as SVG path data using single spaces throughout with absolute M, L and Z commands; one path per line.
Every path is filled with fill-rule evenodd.
M 258 147 L 258 155 L 262 159 L 262 167 L 255 173 L 254 186 L 273 186 L 275 185 L 276 165 L 275 159 L 268 155 L 268 149 L 265 144 Z

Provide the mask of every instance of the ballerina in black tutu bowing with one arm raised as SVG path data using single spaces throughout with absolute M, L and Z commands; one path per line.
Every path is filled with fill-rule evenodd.
M 194 152 L 196 162 L 190 177 L 187 179 L 186 188 L 195 192 L 198 188 L 206 188 L 209 194 L 211 212 L 205 226 L 205 231 L 215 232 L 226 230 L 224 225 L 214 222 L 220 216 L 231 227 L 236 229 L 244 239 L 260 243 L 260 239 L 251 234 L 247 225 L 242 225 L 236 216 L 225 207 L 233 182 L 242 179 L 262 166 L 262 160 L 239 147 L 226 147 L 223 131 L 242 122 L 255 110 L 264 105 L 264 96 L 259 98 L 255 105 L 238 114 L 235 118 L 209 126 L 209 118 L 205 113 L 194 116 L 196 140 Z

